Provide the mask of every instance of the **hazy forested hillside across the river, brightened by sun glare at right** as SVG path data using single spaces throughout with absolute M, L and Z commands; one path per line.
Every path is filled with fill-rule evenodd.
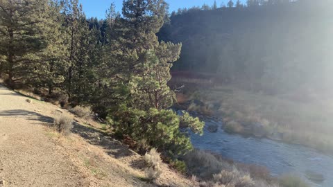
M 327 87 L 332 70 L 332 2 L 300 0 L 173 12 L 158 33 L 182 42 L 173 71 L 216 73 L 269 92 Z M 318 84 L 320 83 L 320 84 Z

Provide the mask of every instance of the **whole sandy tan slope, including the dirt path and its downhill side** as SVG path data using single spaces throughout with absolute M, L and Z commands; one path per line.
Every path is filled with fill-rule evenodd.
M 0 186 L 195 186 L 164 167 L 146 184 L 144 159 L 76 118 L 73 134 L 60 136 L 49 125 L 55 105 L 32 100 L 0 84 Z

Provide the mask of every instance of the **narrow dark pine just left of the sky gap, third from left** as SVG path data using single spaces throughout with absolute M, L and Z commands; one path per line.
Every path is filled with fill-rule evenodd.
M 84 95 L 83 84 L 87 83 L 83 74 L 87 72 L 85 68 L 89 60 L 89 50 L 92 50 L 89 46 L 92 44 L 92 35 L 89 34 L 89 25 L 78 0 L 63 0 L 62 14 L 65 17 L 67 63 L 69 64 L 63 89 L 69 96 L 69 100 L 80 103 Z

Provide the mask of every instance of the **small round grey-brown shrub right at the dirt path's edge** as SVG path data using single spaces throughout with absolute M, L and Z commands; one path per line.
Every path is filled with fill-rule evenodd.
M 66 114 L 59 114 L 53 121 L 56 130 L 62 134 L 69 134 L 73 128 L 73 118 Z

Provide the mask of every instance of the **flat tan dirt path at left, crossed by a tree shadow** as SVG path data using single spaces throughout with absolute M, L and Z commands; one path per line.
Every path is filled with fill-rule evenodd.
M 52 119 L 35 102 L 0 85 L 0 179 L 6 186 L 85 186 L 83 173 L 45 135 L 41 124 Z

